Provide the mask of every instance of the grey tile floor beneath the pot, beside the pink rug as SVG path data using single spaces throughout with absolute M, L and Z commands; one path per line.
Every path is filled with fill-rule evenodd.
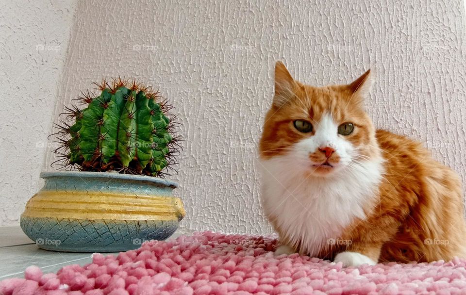
M 170 239 L 180 235 L 181 233 L 175 232 Z M 89 263 L 92 261 L 91 255 L 92 253 L 42 250 L 23 233 L 19 226 L 0 227 L 0 280 L 24 278 L 24 270 L 31 265 L 40 267 L 43 273 L 55 273 L 68 264 Z

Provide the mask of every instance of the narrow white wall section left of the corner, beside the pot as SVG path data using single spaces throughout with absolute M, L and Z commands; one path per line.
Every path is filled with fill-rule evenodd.
M 75 0 L 1 1 L 0 225 L 18 224 L 42 186 Z

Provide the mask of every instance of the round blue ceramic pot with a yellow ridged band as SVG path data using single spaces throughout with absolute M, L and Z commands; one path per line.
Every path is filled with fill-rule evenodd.
M 165 240 L 185 212 L 176 182 L 105 172 L 43 172 L 21 229 L 46 250 L 118 252 Z

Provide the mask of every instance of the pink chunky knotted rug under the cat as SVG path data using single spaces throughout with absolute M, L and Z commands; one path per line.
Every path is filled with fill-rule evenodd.
M 466 294 L 466 260 L 343 268 L 298 254 L 275 258 L 276 244 L 275 236 L 196 232 L 116 257 L 94 254 L 57 274 L 31 266 L 25 279 L 1 281 L 0 294 Z

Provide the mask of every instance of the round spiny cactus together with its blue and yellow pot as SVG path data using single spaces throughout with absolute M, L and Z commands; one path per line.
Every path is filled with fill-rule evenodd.
M 59 168 L 27 203 L 23 231 L 47 250 L 115 252 L 169 237 L 184 217 L 163 179 L 178 153 L 172 107 L 150 87 L 116 79 L 66 107 L 52 135 Z M 52 164 L 52 165 L 53 165 Z

